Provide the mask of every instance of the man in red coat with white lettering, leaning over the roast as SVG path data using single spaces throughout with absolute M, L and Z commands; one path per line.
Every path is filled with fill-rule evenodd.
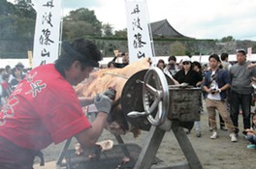
M 88 40 L 62 42 L 63 52 L 54 64 L 39 66 L 23 78 L 0 112 L 0 168 L 33 169 L 34 158 L 51 143 L 75 136 L 84 151 L 100 137 L 112 100 L 98 94 L 91 101 L 97 118 L 84 115 L 73 86 L 99 67 L 102 55 Z

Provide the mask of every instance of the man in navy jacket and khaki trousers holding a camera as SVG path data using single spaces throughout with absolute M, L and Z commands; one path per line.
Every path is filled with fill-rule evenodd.
M 235 135 L 235 127 L 230 118 L 230 113 L 227 109 L 226 103 L 226 90 L 230 88 L 230 79 L 227 70 L 219 69 L 220 59 L 217 54 L 212 54 L 208 57 L 209 70 L 205 76 L 205 82 L 203 84 L 206 91 L 206 107 L 208 110 L 208 120 L 212 130 L 211 139 L 218 137 L 217 125 L 216 125 L 216 112 L 218 110 L 220 116 L 226 123 L 230 132 L 232 142 L 237 142 L 238 139 Z

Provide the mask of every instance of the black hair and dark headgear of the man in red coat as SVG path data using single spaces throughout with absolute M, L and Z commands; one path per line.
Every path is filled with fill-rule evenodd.
M 76 39 L 74 42 L 62 42 L 62 53 L 55 61 L 55 68 L 63 76 L 75 61 L 80 61 L 82 70 L 85 67 L 99 67 L 102 54 L 98 47 L 89 40 Z

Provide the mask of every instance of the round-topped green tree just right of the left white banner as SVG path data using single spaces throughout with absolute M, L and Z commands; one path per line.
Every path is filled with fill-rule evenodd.
M 72 40 L 84 36 L 101 37 L 102 23 L 94 11 L 80 8 L 63 19 L 63 39 Z

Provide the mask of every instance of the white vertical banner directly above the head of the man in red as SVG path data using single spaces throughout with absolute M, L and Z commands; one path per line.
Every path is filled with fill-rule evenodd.
M 37 1 L 37 20 L 33 49 L 33 68 L 58 58 L 61 0 Z

